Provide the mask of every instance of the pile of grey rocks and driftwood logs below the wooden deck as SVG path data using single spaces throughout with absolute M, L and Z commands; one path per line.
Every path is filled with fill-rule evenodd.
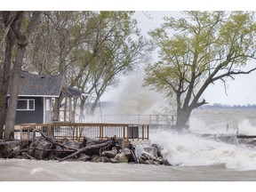
M 84 137 L 83 142 L 48 137 L 36 137 L 32 141 L 0 140 L 2 158 L 171 165 L 164 160 L 156 144 L 145 148 L 140 157 L 135 156 L 133 149 L 124 145 L 123 138 L 116 137 L 108 140 Z

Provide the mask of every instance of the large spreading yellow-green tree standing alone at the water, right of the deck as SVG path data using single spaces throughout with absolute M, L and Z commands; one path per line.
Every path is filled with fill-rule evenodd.
M 254 12 L 185 12 L 186 18 L 164 18 L 149 32 L 159 61 L 148 65 L 144 85 L 175 100 L 176 127 L 185 127 L 193 109 L 206 104 L 210 84 L 249 74 L 255 60 Z M 173 35 L 171 35 L 173 33 Z

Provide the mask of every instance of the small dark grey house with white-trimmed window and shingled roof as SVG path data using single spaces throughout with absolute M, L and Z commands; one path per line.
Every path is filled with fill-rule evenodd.
M 15 124 L 51 123 L 53 103 L 60 98 L 60 94 L 68 95 L 69 101 L 71 98 L 88 95 L 75 88 L 63 87 L 63 76 L 60 75 L 38 76 L 21 71 L 20 76 Z M 8 93 L 7 98 L 9 96 Z

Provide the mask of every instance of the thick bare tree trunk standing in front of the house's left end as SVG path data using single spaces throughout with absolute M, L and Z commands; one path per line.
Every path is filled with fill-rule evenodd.
M 26 17 L 27 16 L 27 17 Z M 14 124 L 20 87 L 20 71 L 23 57 L 28 45 L 28 36 L 39 19 L 40 12 L 14 12 L 10 29 L 17 39 L 17 51 L 13 63 L 11 78 L 9 79 L 9 105 L 7 108 L 4 140 L 14 139 Z M 11 66 L 10 66 L 11 68 Z

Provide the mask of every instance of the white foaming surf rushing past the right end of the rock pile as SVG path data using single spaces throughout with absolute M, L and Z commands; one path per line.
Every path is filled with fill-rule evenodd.
M 164 148 L 164 158 L 173 165 L 225 164 L 227 169 L 256 170 L 255 148 L 209 140 L 188 132 L 158 131 L 151 135 L 151 141 Z

